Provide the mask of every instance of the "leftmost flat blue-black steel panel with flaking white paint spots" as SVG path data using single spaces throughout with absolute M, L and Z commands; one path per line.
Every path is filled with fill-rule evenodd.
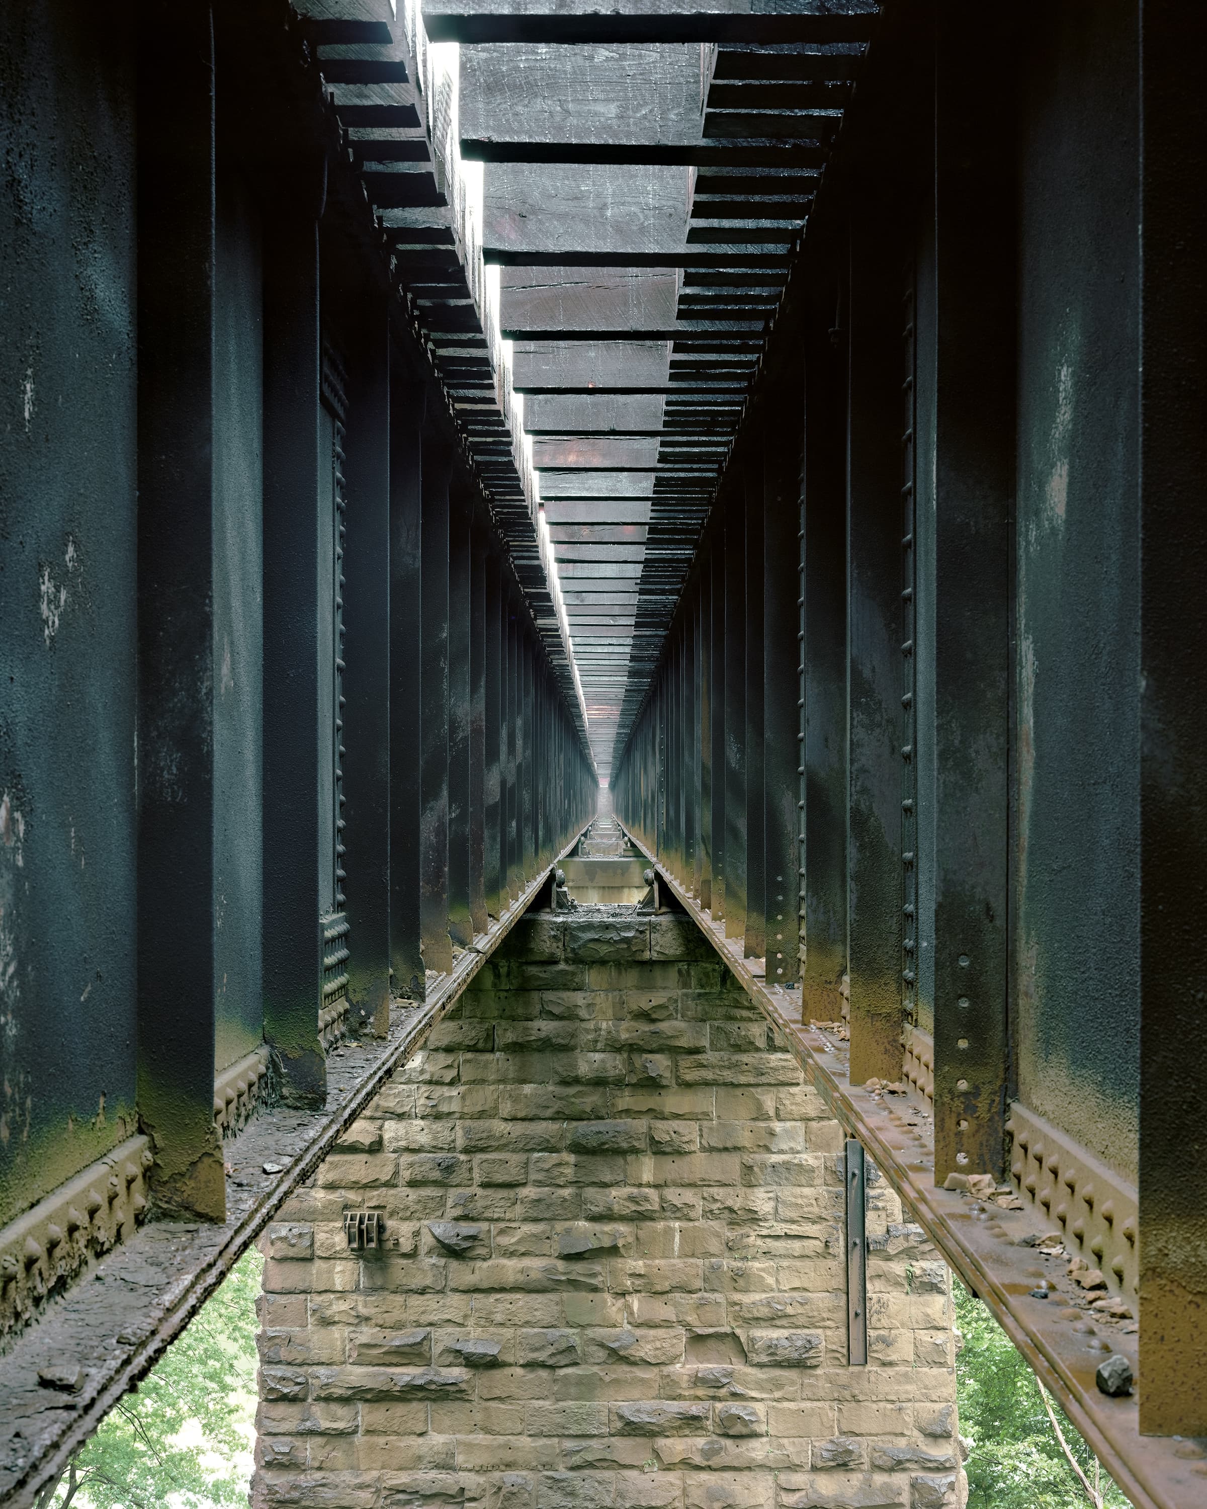
M 0 12 L 3 1221 L 137 1126 L 133 39 Z

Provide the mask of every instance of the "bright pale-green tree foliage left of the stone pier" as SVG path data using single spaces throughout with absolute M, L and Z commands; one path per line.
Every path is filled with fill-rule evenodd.
M 38 1509 L 246 1509 L 263 1266 L 244 1252 Z

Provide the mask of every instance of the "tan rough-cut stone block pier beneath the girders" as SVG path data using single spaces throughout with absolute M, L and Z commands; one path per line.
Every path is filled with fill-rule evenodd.
M 258 1509 L 949 1509 L 946 1268 L 689 919 L 518 924 L 263 1239 Z M 349 1251 L 346 1210 L 385 1219 Z

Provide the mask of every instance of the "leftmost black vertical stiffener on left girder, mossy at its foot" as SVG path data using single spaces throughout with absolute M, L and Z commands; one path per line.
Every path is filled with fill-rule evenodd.
M 214 38 L 208 8 L 158 18 L 139 32 L 137 1097 L 157 1200 L 222 1219 L 214 754 L 235 709 L 216 705 Z

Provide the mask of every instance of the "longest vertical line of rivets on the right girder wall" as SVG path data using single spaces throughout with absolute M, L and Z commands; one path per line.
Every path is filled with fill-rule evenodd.
M 901 385 L 901 881 L 904 927 L 901 930 L 901 1005 L 907 1023 L 917 1020 L 917 551 L 916 524 L 916 330 L 914 267 L 905 267 L 902 293 L 902 355 L 905 377 Z

